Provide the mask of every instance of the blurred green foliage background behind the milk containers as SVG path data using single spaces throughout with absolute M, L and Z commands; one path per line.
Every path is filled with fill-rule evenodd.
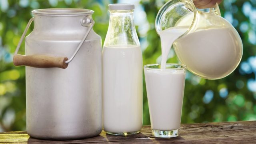
M 160 62 L 160 38 L 154 21 L 164 0 L 1 0 L 0 1 L 0 132 L 26 130 L 25 68 L 12 64 L 31 11 L 41 8 L 86 8 L 94 10 L 94 31 L 102 37 L 108 29 L 108 4 L 134 3 L 135 24 L 144 64 Z M 226 78 L 205 80 L 186 75 L 182 123 L 256 120 L 256 0 L 224 0 L 222 16 L 240 34 L 244 54 L 238 68 Z M 33 24 L 30 27 L 31 32 Z M 24 42 L 20 54 L 24 54 Z M 172 50 L 170 63 L 178 59 Z M 146 86 L 143 85 L 143 124 L 150 124 Z

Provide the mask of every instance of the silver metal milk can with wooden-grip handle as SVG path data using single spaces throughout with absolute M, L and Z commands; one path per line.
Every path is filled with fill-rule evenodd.
M 92 27 L 94 11 L 33 10 L 13 62 L 26 66 L 26 123 L 30 136 L 77 139 L 102 131 L 101 38 Z M 26 56 L 18 49 L 26 37 Z

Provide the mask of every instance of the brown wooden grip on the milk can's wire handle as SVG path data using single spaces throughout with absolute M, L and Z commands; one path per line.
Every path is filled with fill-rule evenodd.
M 67 68 L 68 60 L 66 57 L 53 57 L 45 55 L 24 56 L 15 54 L 13 56 L 13 64 L 15 66 L 32 66 L 35 68 Z

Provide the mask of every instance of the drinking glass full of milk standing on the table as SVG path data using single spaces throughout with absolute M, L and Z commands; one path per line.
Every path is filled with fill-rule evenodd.
M 148 64 L 144 66 L 152 134 L 155 137 L 179 136 L 186 66 Z

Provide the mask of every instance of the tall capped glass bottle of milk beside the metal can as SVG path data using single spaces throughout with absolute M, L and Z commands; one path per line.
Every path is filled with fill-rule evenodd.
M 103 124 L 108 134 L 137 134 L 142 128 L 142 52 L 133 4 L 110 4 L 102 51 Z

